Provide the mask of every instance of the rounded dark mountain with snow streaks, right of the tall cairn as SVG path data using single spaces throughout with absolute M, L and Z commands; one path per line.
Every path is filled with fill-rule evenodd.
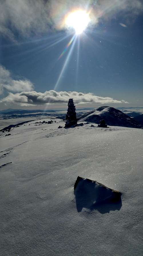
M 80 122 L 87 121 L 96 124 L 99 124 L 100 120 L 102 119 L 105 120 L 106 124 L 112 126 L 141 128 L 141 125 L 134 121 L 131 117 L 118 109 L 108 106 L 98 107 L 97 109 L 94 109 L 78 118 Z

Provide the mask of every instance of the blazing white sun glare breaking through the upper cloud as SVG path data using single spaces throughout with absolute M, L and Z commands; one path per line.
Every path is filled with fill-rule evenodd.
M 65 24 L 68 27 L 73 27 L 77 35 L 81 34 L 86 29 L 89 22 L 89 14 L 83 10 L 78 10 L 69 13 L 65 20 Z

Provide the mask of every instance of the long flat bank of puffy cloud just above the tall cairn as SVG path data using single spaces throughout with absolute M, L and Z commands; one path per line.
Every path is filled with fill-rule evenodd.
M 106 104 L 106 103 L 128 103 L 125 100 L 115 100 L 110 97 L 100 97 L 93 93 L 82 92 L 56 92 L 54 90 L 42 92 L 21 92 L 9 93 L 9 95 L 0 100 L 5 104 L 17 104 L 21 106 L 44 105 L 52 103 L 66 103 L 69 98 L 73 98 L 76 104 Z

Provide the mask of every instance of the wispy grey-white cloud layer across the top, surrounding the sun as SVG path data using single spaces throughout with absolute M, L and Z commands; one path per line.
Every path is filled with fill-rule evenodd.
M 65 28 L 64 18 L 74 9 L 90 11 L 92 24 L 100 19 L 110 19 L 124 11 L 132 17 L 143 10 L 142 0 L 4 0 L 0 1 L 0 33 L 15 40 L 22 36 L 39 34 Z

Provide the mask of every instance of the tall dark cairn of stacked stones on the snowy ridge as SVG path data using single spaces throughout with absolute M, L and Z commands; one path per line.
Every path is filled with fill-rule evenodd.
M 68 102 L 68 109 L 67 109 L 67 114 L 65 117 L 65 127 L 71 127 L 71 126 L 76 126 L 77 125 L 77 118 L 76 118 L 76 107 L 74 106 L 74 101 L 73 99 L 69 99 Z

